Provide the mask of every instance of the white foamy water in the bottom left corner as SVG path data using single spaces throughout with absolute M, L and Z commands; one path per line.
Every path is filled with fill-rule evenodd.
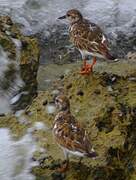
M 14 141 L 8 129 L 0 129 L 0 179 L 34 180 L 30 170 L 35 150 L 36 146 L 30 134 Z

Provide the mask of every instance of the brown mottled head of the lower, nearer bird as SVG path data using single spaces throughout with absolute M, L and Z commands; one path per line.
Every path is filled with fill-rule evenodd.
M 69 99 L 64 95 L 55 98 L 55 105 L 60 111 L 70 111 Z

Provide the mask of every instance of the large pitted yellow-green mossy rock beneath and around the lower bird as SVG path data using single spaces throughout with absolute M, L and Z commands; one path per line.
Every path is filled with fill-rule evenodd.
M 107 65 L 107 68 L 108 66 L 110 65 Z M 125 72 L 125 69 L 123 71 Z M 54 90 L 67 95 L 72 114 L 86 128 L 90 141 L 99 154 L 96 160 L 85 158 L 79 172 L 76 169 L 78 159 L 71 158 L 70 169 L 65 174 L 65 179 L 123 180 L 131 179 L 131 175 L 135 173 L 136 82 L 131 81 L 131 77 L 135 77 L 134 71 L 127 75 L 124 72 L 117 73 L 115 69 L 113 74 L 96 71 L 92 76 L 81 76 L 78 71 L 72 70 L 62 79 L 54 80 L 49 90 L 40 92 L 30 107 L 30 111 L 36 112 L 37 119 L 51 128 L 55 114 L 50 115 L 46 112 L 46 104 L 54 98 Z M 33 114 L 33 122 L 36 121 L 34 117 Z M 48 143 L 42 140 L 44 136 L 47 137 Z M 40 136 L 42 147 L 46 147 L 47 153 L 54 159 L 63 160 L 63 152 L 53 142 L 51 132 L 45 133 L 44 136 Z M 130 164 L 132 168 L 129 167 Z M 48 173 L 46 162 L 44 170 Z M 40 176 L 39 172 L 34 171 L 34 174 Z M 51 172 L 48 175 L 50 179 Z

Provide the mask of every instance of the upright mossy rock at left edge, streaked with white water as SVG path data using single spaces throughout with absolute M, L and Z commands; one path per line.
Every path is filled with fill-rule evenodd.
M 6 51 L 9 58 L 8 68 L 4 72 L 4 78 L 0 78 L 1 88 L 10 91 L 11 85 L 17 76 L 22 79 L 22 85 L 15 90 L 18 99 L 11 98 L 13 110 L 25 108 L 37 95 L 37 70 L 39 65 L 39 47 L 35 38 L 21 34 L 18 26 L 10 17 L 0 16 L 0 45 Z M 17 47 L 16 41 L 21 43 Z M 26 94 L 23 92 L 27 92 Z

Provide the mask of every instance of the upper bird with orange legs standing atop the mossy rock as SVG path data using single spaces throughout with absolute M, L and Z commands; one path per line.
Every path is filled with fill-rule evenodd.
M 70 22 L 69 36 L 70 41 L 80 51 L 83 59 L 81 74 L 90 74 L 96 63 L 96 57 L 114 60 L 109 53 L 108 41 L 101 28 L 96 24 L 84 19 L 80 11 L 71 9 L 66 15 L 58 19 L 68 19 Z M 86 56 L 92 55 L 93 63 L 88 64 Z

